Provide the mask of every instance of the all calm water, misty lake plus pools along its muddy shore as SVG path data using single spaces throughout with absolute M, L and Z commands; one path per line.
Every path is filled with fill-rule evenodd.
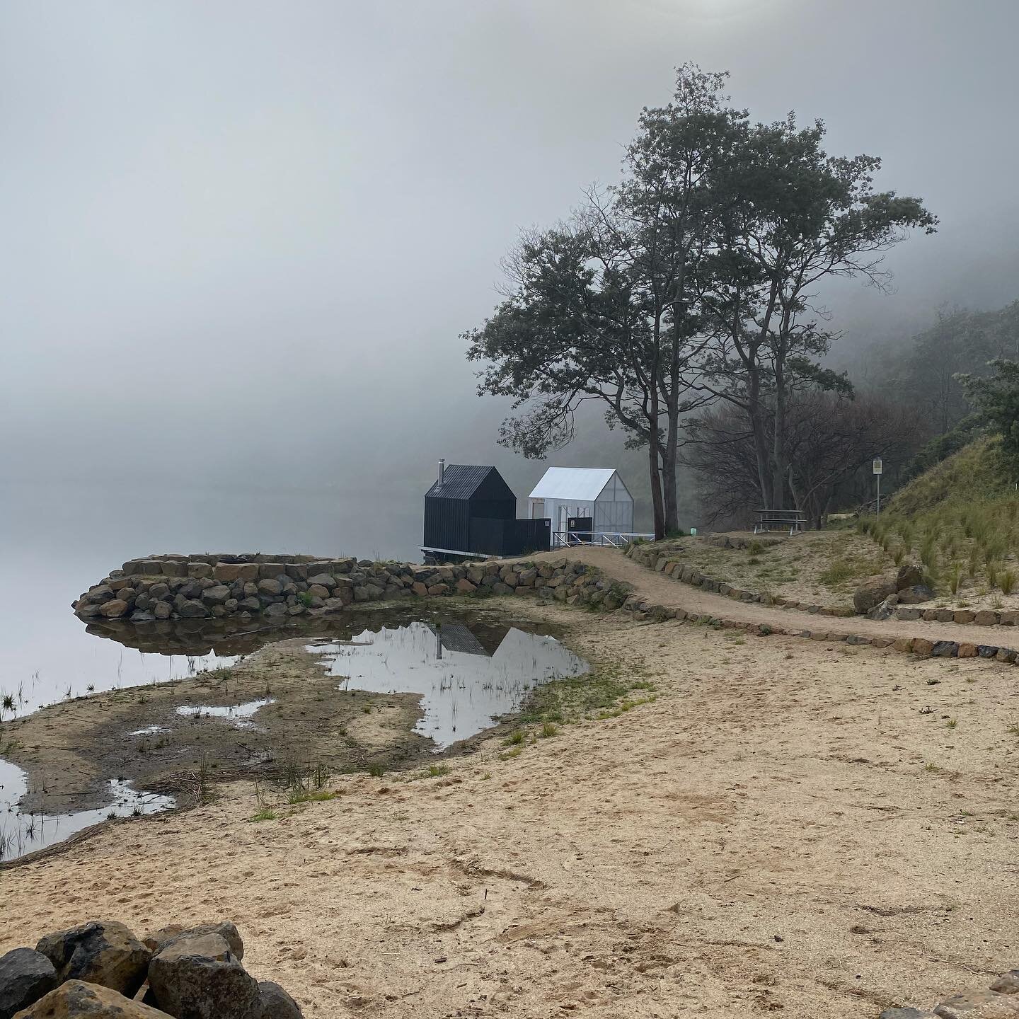
M 0 703 L 9 695 L 18 715 L 93 691 L 162 683 L 230 664 L 236 654 L 273 639 L 256 633 L 212 641 L 174 633 L 172 646 L 180 653 L 166 654 L 160 653 L 165 637 L 140 639 L 131 628 L 116 627 L 92 627 L 90 633 L 71 611 L 71 601 L 127 558 L 176 551 L 420 557 L 419 498 L 395 508 L 380 498 L 379 506 L 367 513 L 363 502 L 334 492 L 268 492 L 253 498 L 185 489 L 169 498 L 150 490 L 52 485 L 13 486 L 4 495 Z M 441 630 L 437 619 L 405 620 L 378 633 L 364 630 L 353 640 L 344 633 L 338 641 L 314 641 L 332 634 L 325 628 L 307 636 L 344 683 L 422 694 L 425 717 L 419 729 L 437 748 L 516 710 L 535 683 L 587 667 L 549 637 L 506 627 L 472 627 L 472 632 L 457 623 L 446 628 L 443 641 Z M 248 726 L 258 723 L 261 706 L 253 702 L 227 710 L 196 704 L 190 710 L 211 710 L 226 725 Z M 111 775 L 109 803 L 101 809 L 26 817 L 16 811 L 24 792 L 24 772 L 2 759 L 0 740 L 0 859 L 44 848 L 110 814 L 129 816 L 171 805 Z

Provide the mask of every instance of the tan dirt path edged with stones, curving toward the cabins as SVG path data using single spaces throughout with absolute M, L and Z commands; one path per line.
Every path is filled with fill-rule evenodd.
M 562 552 L 558 553 L 560 556 Z M 555 558 L 549 552 L 535 558 Z M 826 630 L 828 633 L 859 634 L 868 637 L 925 637 L 930 641 L 967 641 L 970 644 L 1019 646 L 1019 630 L 1015 627 L 962 626 L 954 623 L 926 623 L 923 620 L 868 620 L 863 615 L 850 618 L 818 615 L 795 608 L 771 608 L 753 601 L 734 601 L 720 594 L 711 594 L 655 573 L 628 559 L 614 548 L 570 549 L 570 557 L 590 562 L 615 580 L 632 584 L 638 593 L 655 604 L 684 608 L 688 612 L 709 612 L 727 620 L 746 623 L 766 623 L 782 630 Z

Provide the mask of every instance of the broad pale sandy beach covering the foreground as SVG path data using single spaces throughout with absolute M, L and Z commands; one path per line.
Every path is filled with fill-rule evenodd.
M 244 785 L 108 828 L 0 872 L 0 952 L 230 917 L 327 1019 L 861 1019 L 1019 963 L 1014 668 L 528 610 L 657 700 L 274 821 Z

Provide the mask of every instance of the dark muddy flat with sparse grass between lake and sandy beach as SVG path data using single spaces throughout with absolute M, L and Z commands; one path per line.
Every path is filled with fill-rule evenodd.
M 480 607 L 465 614 L 457 606 L 440 611 L 384 606 L 359 613 L 344 623 L 345 629 L 337 630 L 331 622 L 323 633 L 346 638 L 365 627 L 391 626 L 430 613 L 489 628 L 513 620 L 506 611 Z M 339 692 L 339 681 L 327 675 L 322 656 L 307 652 L 310 636 L 268 644 L 229 668 L 62 701 L 2 723 L 3 756 L 29 775 L 22 811 L 64 813 L 104 806 L 110 779 L 168 793 L 190 805 L 212 781 L 280 777 L 294 766 L 337 774 L 434 760 L 432 741 L 413 732 L 422 715 L 420 698 Z M 181 707 L 262 699 L 272 703 L 244 727 L 222 717 L 178 714 Z M 153 727 L 159 731 L 142 732 Z M 469 749 L 465 741 L 451 753 Z

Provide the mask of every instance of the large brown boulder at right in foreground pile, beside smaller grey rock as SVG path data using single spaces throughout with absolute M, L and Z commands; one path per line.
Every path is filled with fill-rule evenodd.
M 176 1019 L 251 1019 L 260 1001 L 258 981 L 216 933 L 172 941 L 149 966 L 149 989 Z

